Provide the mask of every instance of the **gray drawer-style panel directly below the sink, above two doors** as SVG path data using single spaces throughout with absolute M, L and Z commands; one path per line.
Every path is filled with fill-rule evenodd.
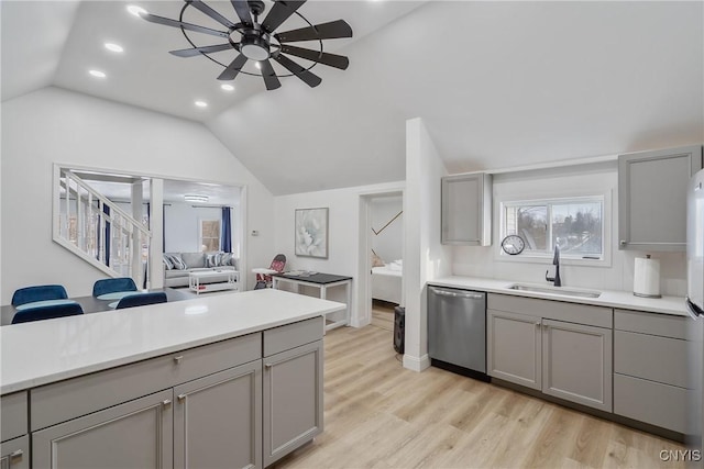
M 486 308 L 596 327 L 612 327 L 612 309 L 563 301 L 490 293 Z

